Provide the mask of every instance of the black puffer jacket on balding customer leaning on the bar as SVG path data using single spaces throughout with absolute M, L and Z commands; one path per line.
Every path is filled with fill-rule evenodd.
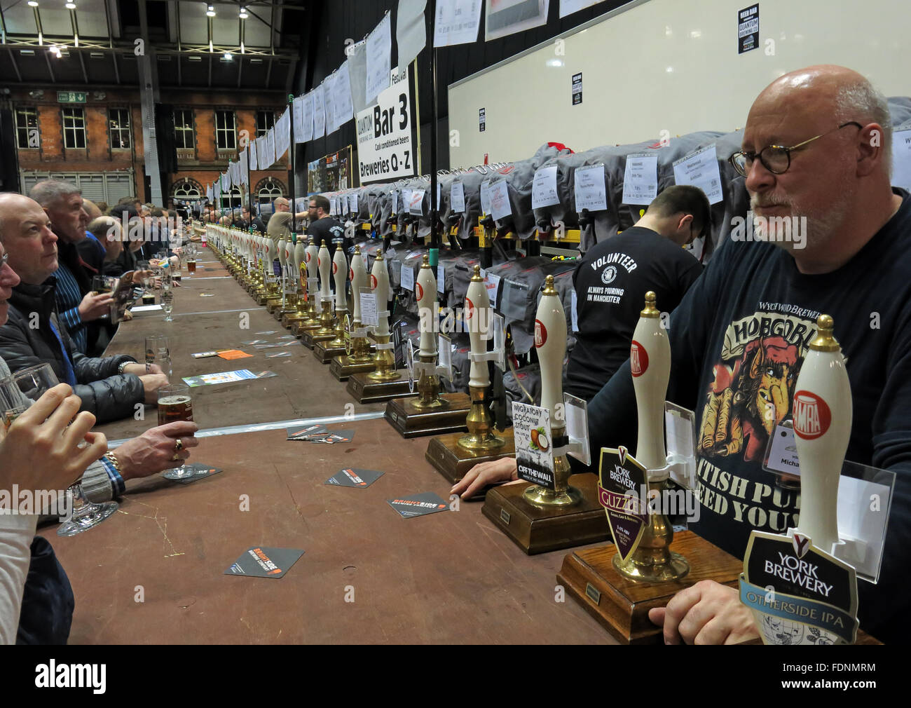
M 97 423 L 132 416 L 135 405 L 142 403 L 145 395 L 142 381 L 132 374 L 118 374 L 122 362 L 136 361 L 130 356 L 105 356 L 93 358 L 80 354 L 70 342 L 67 328 L 57 322 L 54 291 L 56 278 L 48 278 L 42 285 L 20 283 L 13 288 L 9 304 L 9 321 L 0 327 L 0 356 L 14 373 L 37 364 L 51 364 L 60 381 L 66 381 L 63 352 L 49 323 L 53 317 L 57 332 L 70 355 L 77 385 L 73 390 L 82 399 L 80 410 L 89 411 Z M 38 313 L 37 326 L 31 313 Z

